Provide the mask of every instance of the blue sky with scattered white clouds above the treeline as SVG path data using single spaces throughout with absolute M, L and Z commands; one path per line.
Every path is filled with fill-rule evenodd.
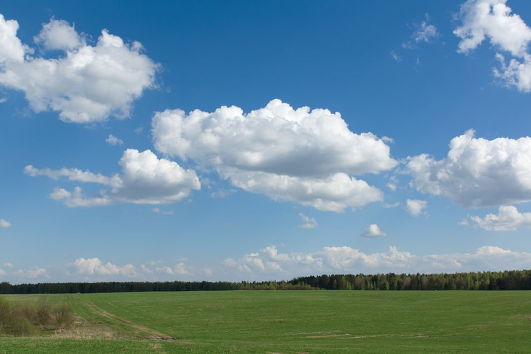
M 0 281 L 531 268 L 529 1 L 0 13 Z

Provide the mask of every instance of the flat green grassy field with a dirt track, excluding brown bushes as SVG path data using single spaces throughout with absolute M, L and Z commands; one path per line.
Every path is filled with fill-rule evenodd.
M 6 297 L 15 303 L 35 301 L 39 296 L 42 295 Z M 71 304 L 79 316 L 74 328 L 32 338 L 0 338 L 0 353 L 529 353 L 531 350 L 528 291 L 232 291 L 47 296 L 52 302 Z

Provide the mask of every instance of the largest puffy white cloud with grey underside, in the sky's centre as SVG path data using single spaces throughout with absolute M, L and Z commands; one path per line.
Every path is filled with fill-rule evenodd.
M 244 114 L 241 108 L 154 115 L 159 152 L 192 159 L 251 193 L 342 212 L 382 200 L 382 191 L 353 176 L 392 169 L 389 147 L 372 133 L 348 130 L 339 113 L 273 100 Z

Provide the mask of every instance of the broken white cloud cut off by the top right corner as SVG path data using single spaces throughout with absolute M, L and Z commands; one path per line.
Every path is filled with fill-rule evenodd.
M 520 16 L 513 13 L 506 0 L 469 0 L 461 6 L 462 26 L 454 31 L 461 38 L 458 52 L 467 54 L 487 38 L 499 50 L 521 59 L 506 59 L 501 53 L 496 57 L 500 69 L 493 69 L 494 76 L 507 86 L 515 86 L 524 92 L 531 91 L 531 55 L 528 46 L 531 28 Z

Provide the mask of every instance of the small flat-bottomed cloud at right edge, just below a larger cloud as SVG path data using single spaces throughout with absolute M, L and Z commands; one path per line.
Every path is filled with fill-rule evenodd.
M 475 227 L 487 231 L 518 231 L 523 227 L 531 227 L 531 212 L 518 212 L 512 205 L 502 205 L 498 208 L 498 215 L 489 214 L 481 217 L 470 217 Z

